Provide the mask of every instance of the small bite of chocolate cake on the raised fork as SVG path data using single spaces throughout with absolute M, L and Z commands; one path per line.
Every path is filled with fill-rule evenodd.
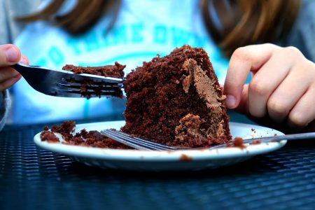
M 114 78 L 123 78 L 124 76 L 124 69 L 125 65 L 119 64 L 118 62 L 115 62 L 114 65 L 106 65 L 106 66 L 74 66 L 67 64 L 62 67 L 63 70 L 66 71 L 72 71 L 73 73 L 90 73 L 94 74 L 97 76 L 109 76 L 109 77 L 114 77 Z M 69 80 L 68 82 L 75 82 Z M 102 95 L 102 87 L 106 86 L 108 84 L 106 83 L 95 83 L 90 80 L 85 80 L 81 83 L 80 86 L 80 94 L 83 97 L 86 97 L 89 99 L 93 94 L 101 97 Z M 123 91 L 120 89 L 120 87 L 113 87 L 114 92 L 113 96 L 115 97 L 123 97 Z

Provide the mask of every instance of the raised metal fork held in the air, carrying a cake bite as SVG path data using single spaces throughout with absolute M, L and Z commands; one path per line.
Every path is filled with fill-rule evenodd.
M 88 73 L 76 74 L 62 69 L 48 69 L 42 66 L 14 64 L 11 66 L 38 92 L 56 97 L 112 97 L 122 91 L 123 78 L 97 76 Z M 84 92 L 82 85 L 87 86 Z M 97 92 L 97 94 L 96 94 Z

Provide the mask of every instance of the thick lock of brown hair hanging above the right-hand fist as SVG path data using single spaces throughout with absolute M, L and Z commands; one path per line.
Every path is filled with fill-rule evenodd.
M 221 22 L 215 27 L 213 7 Z M 283 38 L 293 26 L 299 0 L 200 0 L 204 23 L 225 55 L 244 45 Z

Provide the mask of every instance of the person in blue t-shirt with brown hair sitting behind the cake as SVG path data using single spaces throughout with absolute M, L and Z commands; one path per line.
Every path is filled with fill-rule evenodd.
M 20 78 L 10 64 L 28 62 L 26 57 L 31 64 L 57 68 L 67 63 L 97 66 L 118 61 L 132 69 L 156 54 L 167 55 L 176 47 L 190 44 L 209 53 L 219 81 L 225 81 L 223 91 L 229 109 L 260 123 L 272 123 L 270 127 L 309 129 L 314 123 L 315 109 L 310 107 L 315 94 L 314 1 L 241 0 L 236 5 L 235 1 L 207 0 L 102 2 L 44 1 L 43 12 L 20 18 L 36 20 L 22 33 L 17 33 L 9 21 L 6 25 L 15 33 L 1 37 L 14 38 L 18 48 L 14 45 L 0 48 L 2 90 Z M 6 1 L 4 5 L 13 8 L 15 3 Z M 99 12 L 88 13 L 99 8 L 105 8 L 107 15 L 99 18 Z M 255 8 L 260 8 L 259 12 Z M 20 15 L 17 10 L 8 11 L 10 15 Z M 91 22 L 95 24 L 91 26 Z M 9 41 L 12 40 L 1 43 Z M 7 56 L 8 49 L 14 49 L 11 52 L 16 54 Z M 20 55 L 19 49 L 26 57 Z M 13 55 L 14 61 L 10 57 Z M 249 72 L 252 76 L 247 84 Z M 69 120 L 76 119 L 75 115 L 90 118 L 93 114 L 122 113 L 124 109 L 118 109 L 123 107 L 118 106 L 124 103 L 120 101 L 58 99 L 30 88 L 23 79 L 13 85 L 10 122 Z M 3 94 L 4 102 L 8 101 L 7 92 Z M 99 104 L 102 109 L 97 108 Z M 7 105 L 2 110 L 7 110 Z M 79 107 L 83 108 L 75 109 Z M 3 113 L 4 117 L 8 114 Z

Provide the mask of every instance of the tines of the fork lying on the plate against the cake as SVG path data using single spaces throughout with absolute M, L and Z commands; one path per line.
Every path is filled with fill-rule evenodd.
M 109 137 L 115 141 L 125 144 L 132 148 L 146 151 L 174 151 L 178 148 L 173 146 L 167 146 L 164 144 L 158 144 L 153 141 L 148 141 L 145 139 L 140 139 L 138 137 L 131 137 L 129 134 L 125 134 L 118 130 L 106 129 L 101 131 L 106 137 Z

